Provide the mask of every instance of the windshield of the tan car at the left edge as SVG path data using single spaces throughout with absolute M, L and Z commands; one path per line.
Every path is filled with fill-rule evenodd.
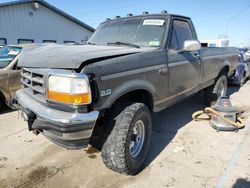
M 0 69 L 7 67 L 11 61 L 20 53 L 22 48 L 5 46 L 0 49 Z

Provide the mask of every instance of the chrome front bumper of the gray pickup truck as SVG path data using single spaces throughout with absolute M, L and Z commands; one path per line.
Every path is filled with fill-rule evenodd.
M 28 121 L 29 130 L 42 130 L 44 136 L 68 149 L 88 145 L 99 112 L 66 112 L 41 104 L 23 90 L 16 93 L 23 118 Z

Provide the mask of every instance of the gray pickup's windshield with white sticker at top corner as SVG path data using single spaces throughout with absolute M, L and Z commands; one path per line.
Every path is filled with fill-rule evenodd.
M 165 22 L 165 19 L 157 17 L 113 20 L 101 24 L 88 43 L 96 45 L 130 43 L 139 47 L 160 47 L 166 30 Z

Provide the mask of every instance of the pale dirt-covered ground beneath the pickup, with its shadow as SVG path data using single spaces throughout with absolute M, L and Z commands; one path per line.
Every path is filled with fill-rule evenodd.
M 250 81 L 231 87 L 233 104 L 244 110 L 246 127 L 216 132 L 194 122 L 203 109 L 195 95 L 154 115 L 145 169 L 125 176 L 107 169 L 94 148 L 66 150 L 35 136 L 17 111 L 0 115 L 0 187 L 250 187 Z

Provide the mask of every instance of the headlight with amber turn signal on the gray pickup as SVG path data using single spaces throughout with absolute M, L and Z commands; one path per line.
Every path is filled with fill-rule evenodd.
M 50 76 L 48 99 L 56 102 L 82 105 L 91 103 L 91 90 L 87 77 Z

